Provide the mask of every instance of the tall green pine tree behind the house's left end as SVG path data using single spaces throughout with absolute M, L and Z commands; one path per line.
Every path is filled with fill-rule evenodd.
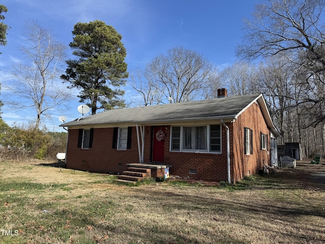
M 67 60 L 66 74 L 61 75 L 64 81 L 71 83 L 68 88 L 80 89 L 80 102 L 87 102 L 91 114 L 98 109 L 124 107 L 124 100 L 120 98 L 124 90 L 118 88 L 128 77 L 122 36 L 99 20 L 78 22 L 72 34 L 70 47 L 78 59 Z

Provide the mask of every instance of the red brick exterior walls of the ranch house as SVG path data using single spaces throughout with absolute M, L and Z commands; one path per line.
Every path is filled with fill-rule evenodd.
M 258 173 L 262 169 L 263 159 L 270 165 L 270 156 L 266 150 L 260 149 L 260 132 L 268 135 L 270 132 L 257 104 L 252 104 L 245 110 L 235 123 L 226 123 L 230 129 L 230 160 L 231 180 L 237 182 L 244 176 Z M 165 127 L 165 126 L 164 126 Z M 253 130 L 253 154 L 244 155 L 244 127 Z M 170 175 L 182 178 L 201 179 L 209 181 L 227 181 L 226 129 L 222 128 L 222 153 L 185 153 L 170 151 L 170 126 L 165 129 L 165 164 L 171 165 Z M 140 133 L 140 131 L 139 131 Z M 69 130 L 67 150 L 67 167 L 92 172 L 121 173 L 126 170 L 126 164 L 139 163 L 137 131 L 132 128 L 131 149 L 117 150 L 112 148 L 113 128 L 95 128 L 92 148 L 78 148 L 78 129 Z M 145 127 L 144 163 L 151 162 L 152 127 Z M 234 148 L 234 149 L 232 149 Z M 269 145 L 270 148 L 270 145 Z M 189 170 L 196 170 L 192 174 Z

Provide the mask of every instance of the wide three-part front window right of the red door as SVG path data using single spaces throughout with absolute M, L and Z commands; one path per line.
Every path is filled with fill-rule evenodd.
M 220 125 L 172 127 L 171 150 L 221 153 Z

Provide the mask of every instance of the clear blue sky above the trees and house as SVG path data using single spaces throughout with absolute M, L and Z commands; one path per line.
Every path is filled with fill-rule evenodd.
M 67 46 L 77 22 L 102 20 L 122 35 L 126 48 L 128 72 L 143 68 L 156 55 L 172 47 L 183 46 L 195 50 L 222 70 L 236 61 L 235 47 L 241 41 L 242 18 L 249 18 L 258 0 L 3 0 L 8 8 L 4 22 L 11 27 L 8 44 L 0 47 L 0 75 L 12 63 L 21 59 L 18 44 L 22 41 L 23 25 L 28 19 L 37 20 L 43 27 L 52 26 L 59 41 Z M 68 49 L 71 55 L 71 50 Z M 70 56 L 72 57 L 72 56 Z M 125 100 L 135 93 L 126 85 Z M 1 91 L 4 93 L 5 91 Z M 1 99 L 1 96 L 0 96 Z M 3 99 L 1 99 L 3 100 Z M 58 117 L 67 120 L 80 117 L 76 97 L 71 109 L 56 114 L 47 121 L 50 131 L 61 131 Z M 3 100 L 6 104 L 6 101 Z M 28 123 L 34 111 L 12 111 L 6 105 L 2 117 L 9 126 Z

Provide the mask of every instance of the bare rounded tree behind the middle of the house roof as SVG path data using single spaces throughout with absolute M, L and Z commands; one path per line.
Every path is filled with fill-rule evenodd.
M 156 56 L 142 74 L 145 86 L 139 81 L 134 87 L 142 96 L 150 95 L 145 104 L 179 103 L 205 97 L 205 88 L 215 79 L 216 70 L 198 52 L 174 47 L 166 55 Z

